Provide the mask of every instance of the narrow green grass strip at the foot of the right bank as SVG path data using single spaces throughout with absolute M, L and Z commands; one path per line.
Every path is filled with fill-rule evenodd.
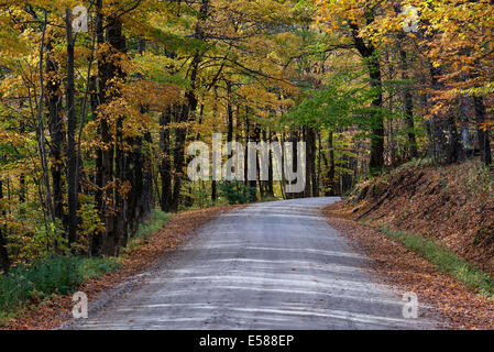
M 407 249 L 418 253 L 440 271 L 451 274 L 475 293 L 494 298 L 494 282 L 491 277 L 482 270 L 452 253 L 444 245 L 403 231 L 394 232 L 387 229 L 378 229 L 378 231 L 395 241 L 402 242 Z

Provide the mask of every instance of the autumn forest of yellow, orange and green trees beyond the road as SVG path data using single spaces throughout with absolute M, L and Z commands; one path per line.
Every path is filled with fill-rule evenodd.
M 0 272 L 116 256 L 155 209 L 490 167 L 493 56 L 491 0 L 0 1 Z M 190 180 L 213 133 L 305 142 L 304 191 L 272 155 L 267 180 Z

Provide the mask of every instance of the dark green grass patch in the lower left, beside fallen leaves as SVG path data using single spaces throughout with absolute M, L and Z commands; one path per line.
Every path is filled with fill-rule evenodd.
M 19 266 L 0 276 L 0 327 L 31 301 L 67 295 L 88 278 L 119 267 L 116 258 L 51 256 L 30 266 Z

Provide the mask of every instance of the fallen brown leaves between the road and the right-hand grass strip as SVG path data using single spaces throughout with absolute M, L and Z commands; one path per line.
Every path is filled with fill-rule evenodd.
M 420 302 L 432 306 L 439 321 L 452 329 L 494 329 L 493 301 L 439 272 L 402 243 L 349 219 L 351 208 L 344 202 L 328 207 L 325 213 L 358 251 L 373 260 L 372 273 L 392 287 L 416 293 Z

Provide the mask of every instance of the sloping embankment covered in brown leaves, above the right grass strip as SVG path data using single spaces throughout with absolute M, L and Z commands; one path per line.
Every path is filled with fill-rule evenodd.
M 330 210 L 433 239 L 494 277 L 494 173 L 479 161 L 448 167 L 410 163 L 361 184 Z

